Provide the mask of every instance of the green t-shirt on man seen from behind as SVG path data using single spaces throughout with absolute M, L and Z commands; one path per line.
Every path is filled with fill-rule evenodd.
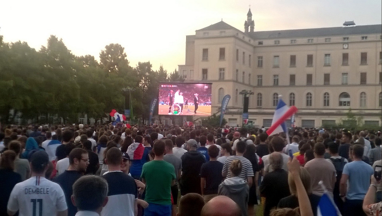
M 171 182 L 176 178 L 174 166 L 171 163 L 146 162 L 143 164 L 141 178 L 146 181 L 146 197 L 144 198 L 146 202 L 171 205 Z

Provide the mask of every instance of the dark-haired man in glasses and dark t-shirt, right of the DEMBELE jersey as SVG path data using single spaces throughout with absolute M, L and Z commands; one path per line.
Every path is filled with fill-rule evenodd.
M 89 155 L 85 149 L 75 148 L 69 154 L 69 168 L 62 174 L 52 179 L 64 190 L 66 203 L 68 205 L 68 216 L 75 216 L 77 207 L 72 204 L 72 186 L 74 182 L 86 173 L 89 165 Z

